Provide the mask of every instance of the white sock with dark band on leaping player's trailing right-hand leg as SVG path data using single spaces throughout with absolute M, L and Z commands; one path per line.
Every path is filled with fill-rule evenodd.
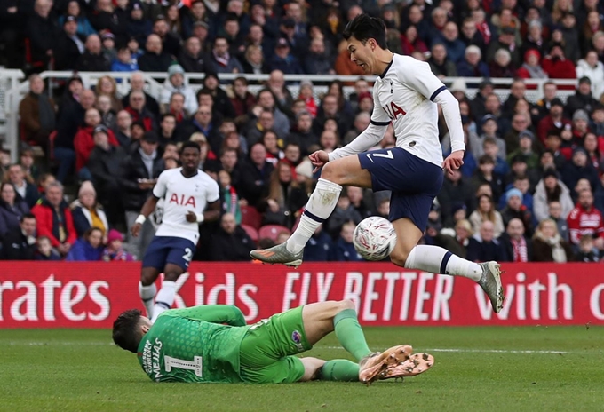
M 464 276 L 473 281 L 480 281 L 482 275 L 481 265 L 470 262 L 464 258 L 442 249 L 439 246 L 417 245 L 405 261 L 405 268 L 419 269 L 429 273 L 450 274 Z

